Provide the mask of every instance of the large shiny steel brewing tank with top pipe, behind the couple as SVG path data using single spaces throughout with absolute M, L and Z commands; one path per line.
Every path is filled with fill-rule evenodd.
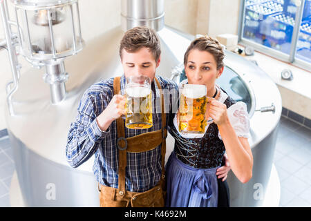
M 19 206 L 99 206 L 97 182 L 92 171 L 94 157 L 77 169 L 70 168 L 66 162 L 69 126 L 89 86 L 122 75 L 118 47 L 124 30 L 147 25 L 158 31 L 162 49 L 158 75 L 171 77 L 172 68 L 182 64 L 185 50 L 194 36 L 164 26 L 163 8 L 163 1 L 122 1 L 122 27 L 93 39 L 78 55 L 65 60 L 69 78 L 62 102 L 51 103 L 50 88 L 42 79 L 43 70 L 30 70 L 20 77 L 19 89 L 12 96 L 16 114 L 10 115 L 6 107 L 17 171 L 10 190 L 12 206 L 18 201 L 21 202 Z M 254 198 L 254 185 L 261 184 L 265 194 L 281 116 L 281 96 L 272 79 L 243 57 L 226 51 L 225 65 L 225 73 L 218 83 L 229 95 L 247 103 L 251 116 L 249 144 L 254 155 L 253 177 L 247 184 L 241 184 L 229 174 L 231 204 L 261 206 L 263 200 Z M 263 108 L 272 103 L 273 112 Z M 169 135 L 166 158 L 173 150 L 173 142 Z

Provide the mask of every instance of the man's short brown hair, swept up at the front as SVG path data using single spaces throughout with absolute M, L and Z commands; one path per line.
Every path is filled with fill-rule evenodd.
M 122 50 L 126 52 L 136 52 L 140 48 L 149 48 L 153 57 L 158 61 L 161 54 L 160 39 L 155 30 L 145 26 L 138 26 L 127 30 L 120 42 L 120 57 Z

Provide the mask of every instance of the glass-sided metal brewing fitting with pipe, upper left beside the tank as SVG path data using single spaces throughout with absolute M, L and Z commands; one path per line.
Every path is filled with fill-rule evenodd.
M 64 59 L 82 50 L 84 41 L 79 23 L 77 0 L 15 0 L 15 20 L 10 20 L 7 1 L 0 2 L 6 44 L 13 81 L 6 86 L 10 115 L 15 115 L 12 95 L 19 86 L 17 55 L 23 55 L 32 66 L 46 68 L 44 81 L 50 84 L 51 102 L 57 104 L 66 96 L 68 79 Z M 12 32 L 16 26 L 17 33 Z

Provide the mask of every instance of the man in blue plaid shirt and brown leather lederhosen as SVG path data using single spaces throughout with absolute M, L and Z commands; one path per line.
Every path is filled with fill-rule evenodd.
M 120 58 L 124 70 L 120 79 L 100 81 L 84 93 L 77 119 L 70 125 L 67 160 L 77 167 L 95 154 L 93 172 L 99 182 L 100 206 L 164 206 L 166 127 L 176 103 L 173 97 L 178 99 L 178 86 L 155 77 L 160 40 L 151 28 L 128 30 L 120 43 Z M 133 130 L 124 127 L 121 117 L 125 114 L 124 84 L 126 77 L 139 75 L 151 79 L 153 98 L 158 96 L 162 102 L 153 99 L 151 128 Z M 166 99 L 163 90 L 170 95 L 165 93 Z

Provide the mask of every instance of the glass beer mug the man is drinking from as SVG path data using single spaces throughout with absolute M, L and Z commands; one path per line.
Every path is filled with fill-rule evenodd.
M 145 129 L 152 124 L 151 81 L 149 77 L 126 78 L 125 126 L 130 129 Z

